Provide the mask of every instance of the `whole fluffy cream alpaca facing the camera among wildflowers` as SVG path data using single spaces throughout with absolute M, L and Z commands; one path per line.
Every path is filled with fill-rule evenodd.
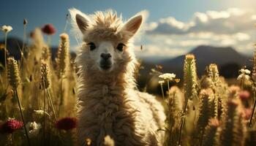
M 83 34 L 78 65 L 78 145 L 104 145 L 110 136 L 115 145 L 162 145 L 165 113 L 162 104 L 137 90 L 138 64 L 132 38 L 143 23 L 135 15 L 126 23 L 116 12 L 85 15 L 69 9 L 72 23 Z

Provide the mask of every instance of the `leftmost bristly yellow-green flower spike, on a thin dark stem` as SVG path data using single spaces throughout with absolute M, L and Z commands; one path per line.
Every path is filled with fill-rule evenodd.
M 20 72 L 18 70 L 18 64 L 17 61 L 15 61 L 14 58 L 8 58 L 7 59 L 8 64 L 8 79 L 10 82 L 10 85 L 12 85 L 12 88 L 18 88 L 18 85 L 20 83 Z

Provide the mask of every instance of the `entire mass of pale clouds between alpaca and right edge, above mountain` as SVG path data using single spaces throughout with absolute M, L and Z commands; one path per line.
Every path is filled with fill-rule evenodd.
M 195 12 L 188 22 L 172 16 L 150 22 L 143 28 L 140 57 L 175 57 L 199 45 L 234 47 L 252 54 L 256 34 L 256 12 L 230 8 L 225 11 Z

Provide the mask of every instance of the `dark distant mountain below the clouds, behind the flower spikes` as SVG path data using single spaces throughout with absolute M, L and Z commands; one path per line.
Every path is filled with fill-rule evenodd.
M 197 63 L 197 74 L 202 75 L 205 72 L 208 64 L 217 64 L 219 72 L 225 77 L 237 77 L 238 69 L 241 66 L 252 66 L 249 57 L 238 53 L 233 47 L 212 47 L 212 46 L 198 46 L 191 52 L 195 55 Z M 183 76 L 185 55 L 180 55 L 176 58 L 167 59 L 159 62 L 163 66 L 162 72 L 173 72 L 178 77 Z M 146 68 L 145 72 L 154 67 L 154 64 L 143 63 Z

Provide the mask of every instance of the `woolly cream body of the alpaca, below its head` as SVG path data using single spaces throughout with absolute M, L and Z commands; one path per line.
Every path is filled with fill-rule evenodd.
M 110 135 L 116 145 L 159 145 L 163 133 L 157 130 L 165 123 L 162 105 L 154 96 L 120 83 L 80 88 L 78 139 L 89 137 L 93 145 L 100 145 Z

